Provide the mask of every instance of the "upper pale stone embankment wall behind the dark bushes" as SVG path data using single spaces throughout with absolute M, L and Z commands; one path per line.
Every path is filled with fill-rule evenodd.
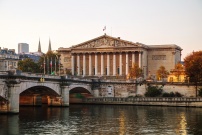
M 196 88 L 191 84 L 183 83 L 151 83 L 150 86 L 162 87 L 163 93 L 178 92 L 183 97 L 196 97 Z M 112 88 L 109 94 L 109 87 Z M 202 86 L 198 86 L 201 88 Z M 102 85 L 100 89 L 94 90 L 94 97 L 144 97 L 148 84 L 114 84 Z

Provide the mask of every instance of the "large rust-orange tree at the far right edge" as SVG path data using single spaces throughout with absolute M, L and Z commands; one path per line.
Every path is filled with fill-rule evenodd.
M 202 51 L 193 52 L 184 58 L 185 73 L 196 86 L 202 81 Z

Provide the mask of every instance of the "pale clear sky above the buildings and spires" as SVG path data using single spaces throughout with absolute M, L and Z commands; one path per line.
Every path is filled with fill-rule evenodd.
M 106 34 L 146 45 L 176 44 L 182 60 L 202 50 L 202 0 L 0 0 L 0 47 L 71 47 Z

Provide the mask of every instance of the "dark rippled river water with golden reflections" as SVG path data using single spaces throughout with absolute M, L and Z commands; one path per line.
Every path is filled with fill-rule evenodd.
M 0 135 L 202 135 L 202 108 L 70 105 L 0 114 Z

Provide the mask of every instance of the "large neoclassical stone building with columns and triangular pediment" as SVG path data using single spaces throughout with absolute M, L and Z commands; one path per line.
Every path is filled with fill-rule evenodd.
M 58 48 L 64 69 L 77 76 L 126 76 L 133 63 L 138 64 L 144 77 L 156 75 L 160 66 L 174 69 L 181 61 L 182 49 L 174 44 L 145 45 L 106 34 L 74 45 Z

